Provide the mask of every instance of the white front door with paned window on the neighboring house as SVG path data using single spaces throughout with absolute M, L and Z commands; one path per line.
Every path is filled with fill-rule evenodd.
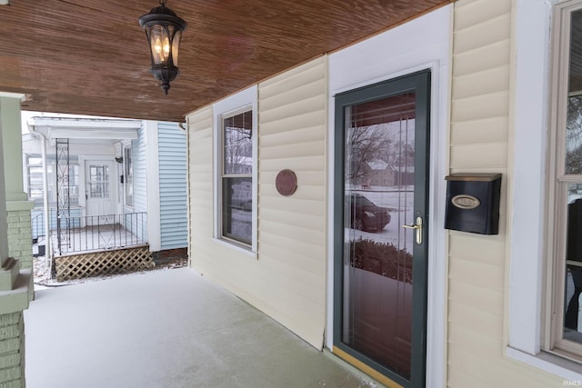
M 115 172 L 113 162 L 85 162 L 87 225 L 112 224 L 115 211 Z

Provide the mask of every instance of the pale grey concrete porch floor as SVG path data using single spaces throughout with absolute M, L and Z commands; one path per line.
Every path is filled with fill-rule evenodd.
M 28 388 L 379 387 L 189 268 L 36 291 Z

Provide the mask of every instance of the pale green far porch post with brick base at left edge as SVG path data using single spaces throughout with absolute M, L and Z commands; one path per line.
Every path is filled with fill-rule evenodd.
M 30 211 L 35 206 L 24 192 L 20 104 L 24 95 L 0 94 L 0 128 L 4 153 L 5 205 L 8 211 L 9 256 L 23 268 L 33 267 Z

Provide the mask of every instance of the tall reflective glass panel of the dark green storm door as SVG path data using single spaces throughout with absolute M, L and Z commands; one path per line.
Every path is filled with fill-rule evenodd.
M 410 378 L 415 93 L 346 107 L 342 342 Z

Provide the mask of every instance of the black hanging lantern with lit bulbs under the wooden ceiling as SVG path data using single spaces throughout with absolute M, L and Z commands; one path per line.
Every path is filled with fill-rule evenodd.
M 167 95 L 170 82 L 180 74 L 177 67 L 178 51 L 186 22 L 166 7 L 166 0 L 160 0 L 160 6 L 139 18 L 139 25 L 146 30 L 152 57 L 150 72 L 160 81 Z

